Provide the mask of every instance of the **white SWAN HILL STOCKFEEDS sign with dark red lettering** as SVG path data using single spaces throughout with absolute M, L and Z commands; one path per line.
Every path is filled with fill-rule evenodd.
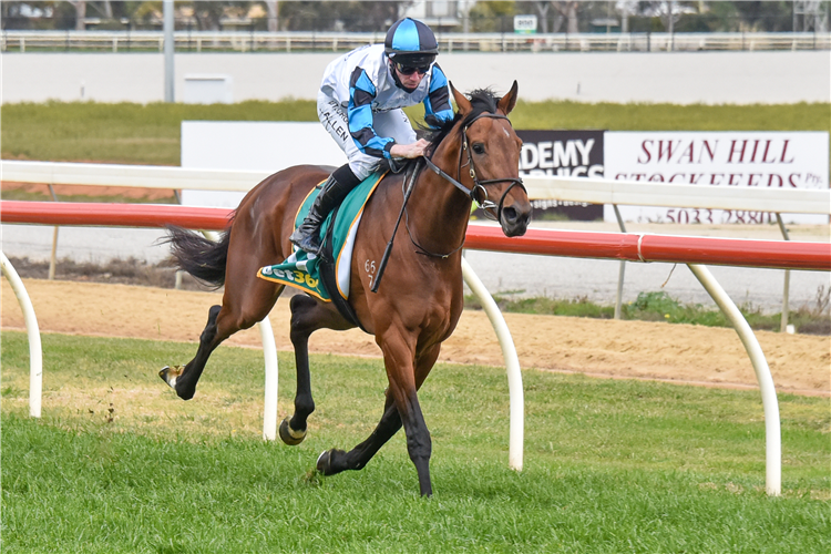
M 606 176 L 697 186 L 829 188 L 829 134 L 824 132 L 609 132 Z M 768 224 L 763 212 L 618 206 L 639 223 Z M 615 220 L 612 206 L 605 219 Z M 828 223 L 828 216 L 788 214 L 791 223 Z

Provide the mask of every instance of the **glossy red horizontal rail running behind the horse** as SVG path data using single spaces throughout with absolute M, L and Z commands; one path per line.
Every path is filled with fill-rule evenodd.
M 43 225 L 222 230 L 230 209 L 154 204 L 0 201 L 0 222 Z M 624 233 L 529 229 L 507 238 L 495 226 L 468 227 L 466 248 L 576 258 L 831 270 L 831 244 Z

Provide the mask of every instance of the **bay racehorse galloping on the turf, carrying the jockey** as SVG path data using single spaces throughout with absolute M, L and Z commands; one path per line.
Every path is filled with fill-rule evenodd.
M 407 450 L 424 496 L 432 494 L 432 447 L 418 390 L 462 314 L 462 246 L 471 203 L 475 201 L 497 220 L 509 237 L 525 233 L 532 211 L 519 175 L 522 141 L 507 119 L 516 104 L 516 81 L 502 98 L 490 89 L 473 91 L 469 96 L 458 92 L 452 83 L 450 90 L 458 106 L 454 117 L 428 135 L 430 146 L 424 157 L 408 164 L 425 163 L 429 167 L 388 173 L 365 207 L 353 247 L 353 259 L 359 263 L 352 264 L 348 295 L 357 321 L 341 315 L 334 302 L 309 295 L 291 297 L 290 339 L 297 391 L 294 413 L 279 428 L 285 443 L 299 444 L 315 410 L 309 336 L 318 329 L 346 330 L 358 324 L 375 336 L 383 355 L 389 383 L 383 416 L 370 437 L 351 451 L 324 451 L 316 469 L 324 475 L 360 470 L 403 425 Z M 160 371 L 160 377 L 182 399 L 193 398 L 213 350 L 230 335 L 263 320 L 274 307 L 284 286 L 259 279 L 256 274 L 260 267 L 277 264 L 293 253 L 288 237 L 295 215 L 329 172 L 330 168 L 299 165 L 266 177 L 243 198 L 216 243 L 168 227 L 165 240 L 171 244 L 174 265 L 216 288 L 225 286 L 222 306 L 208 310 L 193 360 L 184 367 Z M 410 188 L 406 189 L 408 175 Z M 402 214 L 406 225 L 388 243 Z M 383 286 L 378 287 L 377 263 L 388 245 L 389 263 Z M 377 293 L 371 291 L 373 285 Z

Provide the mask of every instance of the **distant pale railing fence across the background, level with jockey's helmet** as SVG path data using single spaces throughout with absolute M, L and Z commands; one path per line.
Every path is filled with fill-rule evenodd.
M 384 33 L 176 31 L 178 52 L 339 52 L 383 42 Z M 439 33 L 442 52 L 661 52 L 831 50 L 831 33 Z M 158 51 L 162 31 L 3 31 L 0 50 Z

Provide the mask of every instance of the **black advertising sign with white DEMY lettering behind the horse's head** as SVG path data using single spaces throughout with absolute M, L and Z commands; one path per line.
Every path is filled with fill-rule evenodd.
M 520 176 L 604 176 L 603 131 L 516 131 L 522 138 Z M 534 219 L 603 218 L 603 206 L 579 202 L 532 199 Z

